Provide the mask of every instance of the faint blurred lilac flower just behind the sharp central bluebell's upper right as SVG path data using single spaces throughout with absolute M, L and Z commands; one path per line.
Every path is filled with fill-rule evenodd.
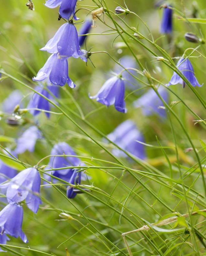
M 124 68 L 128 69 L 128 71 L 132 75 L 134 75 L 134 76 L 137 75 L 137 72 L 135 70 L 130 69 L 130 68 L 137 68 L 137 64 L 136 64 L 136 62 L 134 61 L 134 59 L 131 56 L 123 56 L 120 59 L 120 64 Z M 118 65 L 118 64 L 116 64 L 114 66 L 114 72 L 116 74 L 120 73 L 122 71 L 122 69 L 123 68 L 120 65 Z M 121 76 L 124 79 L 125 86 L 128 89 L 136 90 L 136 89 L 139 88 L 139 84 L 137 83 L 137 80 L 132 75 L 130 75 L 126 70 L 121 73 Z

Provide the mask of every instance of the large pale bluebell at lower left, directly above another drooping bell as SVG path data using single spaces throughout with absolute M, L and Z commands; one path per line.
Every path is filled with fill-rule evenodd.
M 40 199 L 41 178 L 37 169 L 28 168 L 19 172 L 13 179 L 0 185 L 0 188 L 7 188 L 6 198 L 8 203 L 20 203 L 26 199 L 27 207 L 37 213 Z

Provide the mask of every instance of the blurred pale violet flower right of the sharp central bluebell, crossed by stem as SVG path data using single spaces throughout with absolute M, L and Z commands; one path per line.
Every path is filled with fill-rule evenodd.
M 162 86 L 158 88 L 158 93 L 167 102 L 168 93 Z M 143 94 L 139 99 L 133 102 L 135 108 L 141 108 L 145 116 L 153 115 L 157 113 L 160 117 L 166 117 L 166 111 L 162 100 L 157 96 L 153 89 L 150 89 L 147 93 Z

